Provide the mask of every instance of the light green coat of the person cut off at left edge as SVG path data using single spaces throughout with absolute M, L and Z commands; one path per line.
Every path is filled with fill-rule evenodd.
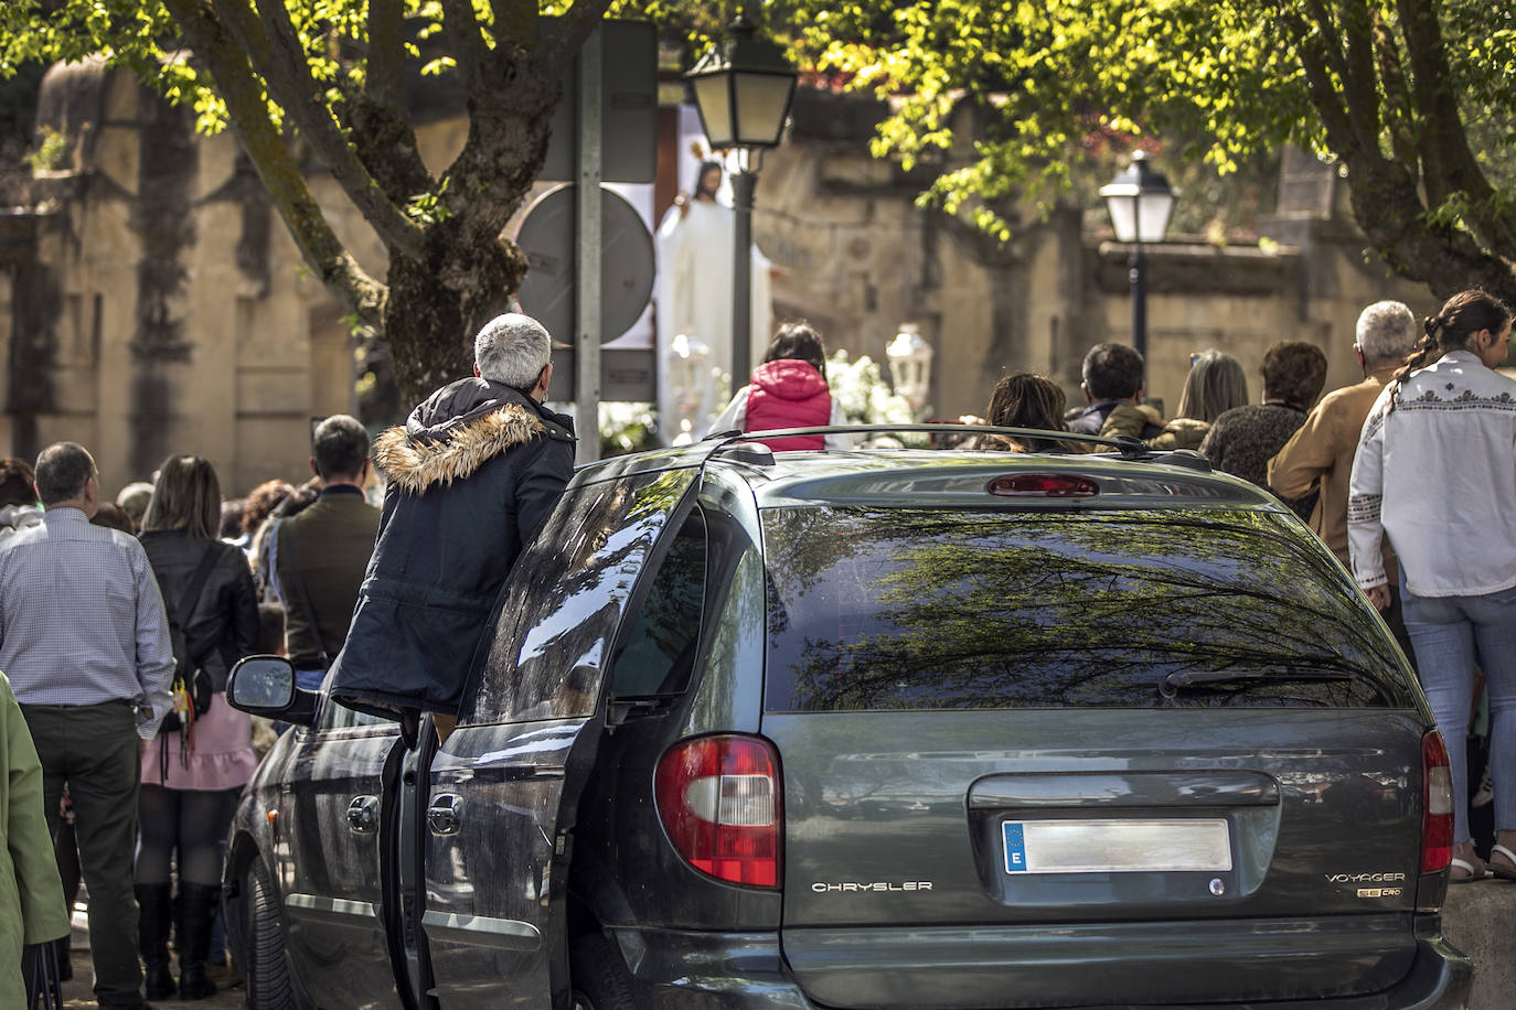
M 0 672 L 0 1007 L 24 1007 L 21 949 L 68 933 L 64 884 L 42 810 L 42 763 Z

